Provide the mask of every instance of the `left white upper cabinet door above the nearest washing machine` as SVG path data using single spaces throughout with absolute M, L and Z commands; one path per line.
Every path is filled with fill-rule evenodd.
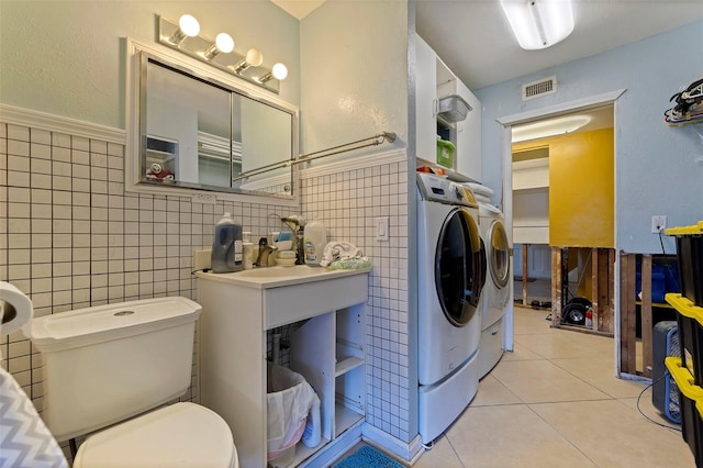
M 437 55 L 415 34 L 415 156 L 437 158 Z

